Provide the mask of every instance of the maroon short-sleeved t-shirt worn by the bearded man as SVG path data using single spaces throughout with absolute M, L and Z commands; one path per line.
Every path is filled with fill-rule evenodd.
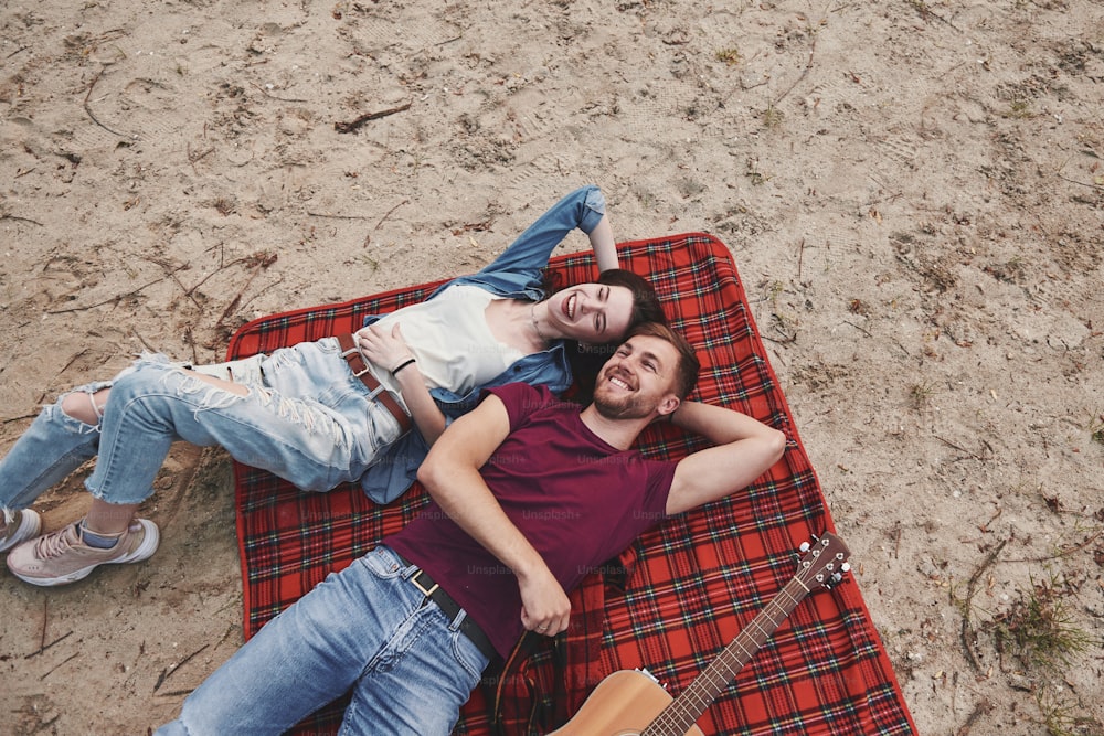
M 491 388 L 510 435 L 480 470 L 502 510 L 565 590 L 665 518 L 675 463 L 599 439 L 580 407 L 543 386 Z M 425 569 L 509 655 L 522 633 L 518 579 L 432 503 L 384 540 Z

